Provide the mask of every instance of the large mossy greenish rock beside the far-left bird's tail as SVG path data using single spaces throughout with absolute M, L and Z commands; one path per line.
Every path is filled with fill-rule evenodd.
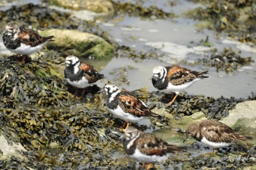
M 77 57 L 95 57 L 97 59 L 111 59 L 114 48 L 103 38 L 91 33 L 78 30 L 51 29 L 40 32 L 40 35 L 54 35 L 54 42 L 49 42 L 49 49 L 61 51 L 65 55 Z

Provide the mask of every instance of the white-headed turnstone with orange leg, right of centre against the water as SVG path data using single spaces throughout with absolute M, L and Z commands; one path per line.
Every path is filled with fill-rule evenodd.
M 173 104 L 178 94 L 184 89 L 192 86 L 192 84 L 200 79 L 208 78 L 208 76 L 204 76 L 208 71 L 197 72 L 191 71 L 189 69 L 180 67 L 179 65 L 172 65 L 168 67 L 157 66 L 153 69 L 154 76 L 152 77 L 152 84 L 155 88 L 161 91 L 171 91 L 174 93 L 170 101 L 166 107 Z

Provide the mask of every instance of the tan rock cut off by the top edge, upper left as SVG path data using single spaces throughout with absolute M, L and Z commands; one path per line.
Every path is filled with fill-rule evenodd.
M 96 13 L 114 13 L 114 5 L 109 0 L 50 0 L 49 4 L 73 10 L 87 9 Z

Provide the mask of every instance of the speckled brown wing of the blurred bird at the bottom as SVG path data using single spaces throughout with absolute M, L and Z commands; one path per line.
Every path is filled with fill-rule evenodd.
M 162 139 L 158 139 L 149 133 L 142 133 L 136 141 L 138 150 L 148 156 L 165 156 L 167 153 L 177 153 L 182 150 L 180 147 L 170 145 Z

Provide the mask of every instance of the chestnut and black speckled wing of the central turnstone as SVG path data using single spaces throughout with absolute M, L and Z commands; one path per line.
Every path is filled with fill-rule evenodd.
M 155 118 L 159 118 L 159 115 L 152 113 L 152 111 L 147 108 L 147 106 L 143 105 L 142 101 L 137 97 L 133 96 L 130 91 L 126 91 L 122 89 L 122 92 L 118 96 L 119 98 L 119 106 L 126 113 L 131 113 L 131 115 L 135 116 L 152 116 Z

